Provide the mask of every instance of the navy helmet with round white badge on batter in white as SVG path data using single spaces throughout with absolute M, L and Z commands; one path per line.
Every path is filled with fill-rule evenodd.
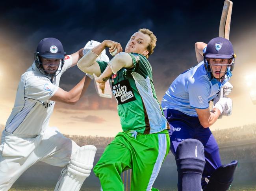
M 66 53 L 64 52 L 63 45 L 58 39 L 44 38 L 37 45 L 37 50 L 35 51 L 35 65 L 44 76 L 55 77 L 60 73 L 64 65 L 65 55 Z M 48 71 L 43 68 L 44 64 L 42 63 L 41 58 L 60 59 L 59 64 L 50 64 L 50 66 L 58 65 L 58 69 L 48 73 Z

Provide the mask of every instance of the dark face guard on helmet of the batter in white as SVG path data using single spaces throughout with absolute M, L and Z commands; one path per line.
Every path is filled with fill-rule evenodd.
M 44 76 L 46 77 L 56 77 L 60 72 L 61 72 L 61 69 L 64 65 L 64 58 L 49 58 L 49 59 L 60 59 L 60 62 L 59 64 L 43 64 L 41 59 L 40 59 L 40 53 L 39 52 L 35 52 L 35 65 L 36 67 L 39 69 L 40 73 L 43 74 Z M 44 57 L 45 58 L 45 57 Z M 49 71 L 48 70 L 45 70 L 43 65 L 47 65 L 48 67 L 49 66 L 56 66 L 58 65 L 58 68 L 56 70 L 52 70 L 51 72 L 52 73 L 48 73 Z

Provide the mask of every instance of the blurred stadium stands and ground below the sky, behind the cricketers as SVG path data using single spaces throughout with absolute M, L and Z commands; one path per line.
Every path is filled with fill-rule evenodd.
M 3 128 L 4 126 L 1 126 L 1 129 Z M 243 133 L 239 133 L 238 135 L 237 132 Z M 228 163 L 232 160 L 239 161 L 231 190 L 256 190 L 256 124 L 233 127 L 228 129 L 228 131 L 227 129 L 215 130 L 213 131 L 213 134 L 219 143 L 222 162 Z M 104 151 L 104 148 L 113 139 L 113 137 L 103 136 L 66 136 L 70 137 L 80 146 L 86 144 L 95 145 L 98 148 L 94 162 L 95 164 Z M 30 167 L 30 169 L 20 176 L 17 182 L 13 185 L 12 190 L 53 190 L 61 169 L 61 167 L 53 167 L 43 162 L 39 162 Z M 129 175 L 127 182 L 128 190 L 130 185 Z M 176 190 L 176 182 L 176 163 L 174 156 L 169 153 L 161 167 L 154 186 L 161 191 L 174 191 Z M 124 186 L 126 190 L 126 172 L 124 173 Z M 99 188 L 100 182 L 93 173 L 91 173 L 91 176 L 85 180 L 85 183 L 82 186 L 83 191 L 99 191 Z

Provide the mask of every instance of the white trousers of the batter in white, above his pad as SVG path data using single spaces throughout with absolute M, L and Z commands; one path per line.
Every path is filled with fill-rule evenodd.
M 4 130 L 0 145 L 0 191 L 10 189 L 26 169 L 39 161 L 60 167 L 69 164 L 78 148 L 53 127 L 36 137 L 17 136 Z

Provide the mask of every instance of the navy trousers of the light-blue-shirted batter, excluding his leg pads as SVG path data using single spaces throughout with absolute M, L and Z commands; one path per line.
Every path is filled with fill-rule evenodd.
M 163 111 L 171 129 L 171 152 L 175 156 L 178 144 L 187 138 L 194 138 L 202 142 L 206 164 L 202 177 L 210 177 L 213 171 L 221 166 L 218 144 L 209 128 L 201 126 L 198 117 L 186 115 L 174 109 Z

